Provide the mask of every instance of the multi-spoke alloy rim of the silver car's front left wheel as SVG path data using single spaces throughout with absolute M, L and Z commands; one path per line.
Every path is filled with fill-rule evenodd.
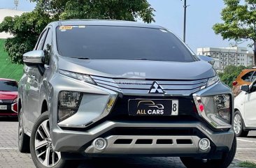
M 38 160 L 45 167 L 53 167 L 61 159 L 60 152 L 52 150 L 49 120 L 43 121 L 36 130 L 35 151 Z

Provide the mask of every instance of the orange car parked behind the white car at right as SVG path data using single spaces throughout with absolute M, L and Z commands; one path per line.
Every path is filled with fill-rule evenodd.
M 232 83 L 233 84 L 233 93 L 234 96 L 238 96 L 241 93 L 240 86 L 243 84 L 251 84 L 253 80 L 256 79 L 256 67 L 252 69 L 242 70 L 236 80 Z

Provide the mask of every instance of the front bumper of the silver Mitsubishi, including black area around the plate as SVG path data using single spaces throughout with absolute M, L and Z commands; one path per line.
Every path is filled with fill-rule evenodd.
M 62 83 L 62 85 L 60 86 L 58 83 Z M 122 95 L 122 98 L 117 100 L 112 111 L 105 116 L 104 108 L 106 107 L 109 96 L 115 95 L 118 92 L 101 86 L 74 82 L 73 79 L 60 76 L 54 78 L 51 88 L 52 90 L 48 92 L 50 93 L 49 97 L 53 100 L 53 102 L 50 103 L 50 133 L 55 151 L 92 156 L 185 155 L 188 157 L 212 158 L 213 156 L 221 157 L 222 154 L 219 156 L 215 154 L 225 153 L 229 151 L 232 146 L 234 139 L 232 125 L 230 125 L 230 128 L 225 129 L 213 128 L 211 124 L 194 111 L 196 109 L 194 109 L 194 102 L 191 96 L 190 98 L 186 98 L 186 96 L 180 95 L 161 95 L 165 98 L 172 96 L 173 98 L 177 97 L 180 101 L 182 100 L 183 105 L 180 104 L 179 106 L 179 111 L 183 113 L 182 115 L 179 114 L 177 117 L 171 118 L 166 116 L 161 119 L 134 119 L 127 115 L 127 95 Z M 80 91 L 87 95 L 84 99 L 85 102 L 82 103 L 85 109 L 78 111 L 77 114 L 62 123 L 57 123 L 57 96 L 59 95 L 59 91 Z M 222 93 L 232 94 L 227 86 L 218 82 L 218 84 L 214 86 L 197 92 L 195 96 L 212 96 Z M 129 96 L 136 96 L 136 98 L 141 96 L 145 98 L 148 94 L 130 94 Z M 51 100 L 49 101 L 51 102 Z M 95 107 L 99 108 L 97 109 L 99 113 L 94 112 Z M 92 116 L 90 112 L 98 116 Z M 103 117 L 102 114 L 104 114 Z M 92 116 L 92 120 L 88 116 Z M 88 121 L 93 122 L 88 123 Z M 115 131 L 117 129 L 121 131 Z M 130 131 L 127 132 L 124 129 L 129 129 Z M 143 130 L 146 131 L 143 132 Z M 98 137 L 102 137 L 107 141 L 107 146 L 102 151 L 98 151 L 92 146 L 92 142 Z M 131 143 L 115 144 L 115 140 L 127 138 L 131 139 Z M 210 149 L 206 151 L 199 150 L 199 139 L 202 138 L 208 138 L 210 140 Z M 150 139 L 152 143 L 136 144 L 138 139 Z M 173 143 L 168 145 L 157 144 L 158 139 L 171 139 Z M 186 142 L 190 143 L 180 144 L 177 142 L 177 139 L 186 139 Z

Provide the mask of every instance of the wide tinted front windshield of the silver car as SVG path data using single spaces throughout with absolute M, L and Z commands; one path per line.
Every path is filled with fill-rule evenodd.
M 129 26 L 57 27 L 62 56 L 87 59 L 127 59 L 192 62 L 197 57 L 173 33 Z

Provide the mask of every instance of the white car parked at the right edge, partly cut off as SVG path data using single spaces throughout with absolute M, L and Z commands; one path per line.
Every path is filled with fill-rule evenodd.
M 246 137 L 256 130 L 256 80 L 242 85 L 241 93 L 234 100 L 234 132 L 236 137 Z

